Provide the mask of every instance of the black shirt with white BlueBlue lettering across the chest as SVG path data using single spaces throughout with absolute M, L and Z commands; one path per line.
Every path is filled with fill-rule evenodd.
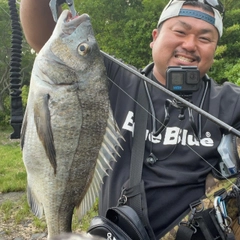
M 104 60 L 108 77 L 111 79 L 111 107 L 125 141 L 122 142 L 124 150 L 120 151 L 121 157 L 113 163 L 113 170 L 108 172 L 109 176 L 104 178 L 99 201 L 100 215 L 105 215 L 109 207 L 117 205 L 122 186 L 129 178 L 134 112 L 139 83 L 142 81 L 109 59 Z M 154 77 L 152 79 L 156 81 Z M 204 195 L 206 176 L 219 161 L 217 147 L 223 131 L 216 123 L 193 111 L 194 123 L 201 132 L 200 140 L 196 140 L 188 110 L 184 112 L 185 119 L 179 120 L 179 109 L 171 107 L 166 128 L 158 136 L 153 136 L 153 121 L 157 128 L 161 126 L 165 117 L 165 102 L 173 99 L 150 84 L 148 87 L 156 119 L 153 120 L 149 114 L 143 180 L 149 221 L 159 238 L 167 227 L 180 218 L 191 202 Z M 199 91 L 193 93 L 191 102 L 239 129 L 239 96 L 240 88 L 234 84 L 225 83 L 219 86 L 213 80 L 206 80 L 202 81 Z M 158 159 L 153 165 L 146 161 L 150 153 Z

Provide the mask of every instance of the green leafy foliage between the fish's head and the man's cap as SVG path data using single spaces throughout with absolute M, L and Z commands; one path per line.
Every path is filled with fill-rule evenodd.
M 79 3 L 78 3 L 79 2 Z M 152 30 L 167 0 L 76 1 L 77 9 L 92 17 L 103 51 L 142 68 L 151 61 Z

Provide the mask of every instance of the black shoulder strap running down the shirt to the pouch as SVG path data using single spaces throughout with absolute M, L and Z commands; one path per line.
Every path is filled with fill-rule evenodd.
M 126 189 L 126 195 L 128 197 L 128 205 L 137 212 L 150 238 L 155 239 L 148 220 L 145 187 L 142 180 L 148 109 L 149 102 L 147 94 L 144 88 L 144 82 L 141 81 L 139 85 L 137 106 L 135 111 L 135 127 L 130 164 L 130 178 L 128 189 Z

